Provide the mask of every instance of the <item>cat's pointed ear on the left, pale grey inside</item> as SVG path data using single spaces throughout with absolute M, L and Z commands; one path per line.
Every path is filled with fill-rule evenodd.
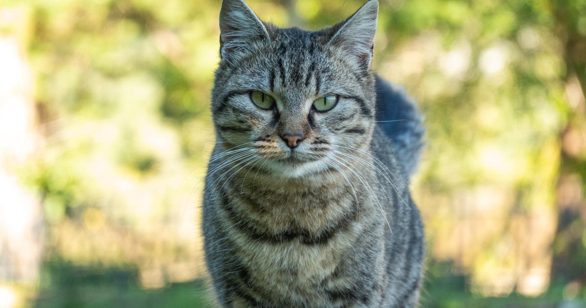
M 223 0 L 220 10 L 220 57 L 226 59 L 252 40 L 270 39 L 267 28 L 243 0 Z

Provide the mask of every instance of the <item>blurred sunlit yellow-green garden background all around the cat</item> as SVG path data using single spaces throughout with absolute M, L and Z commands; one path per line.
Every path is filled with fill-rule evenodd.
M 249 0 L 319 29 L 362 0 Z M 420 103 L 423 307 L 586 307 L 586 0 L 380 0 Z M 220 1 L 0 4 L 0 308 L 208 307 Z

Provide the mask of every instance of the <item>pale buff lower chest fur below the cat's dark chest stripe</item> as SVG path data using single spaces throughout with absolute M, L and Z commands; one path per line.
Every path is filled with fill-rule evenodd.
M 356 232 L 355 232 L 356 231 Z M 351 248 L 358 229 L 321 244 L 301 241 L 268 243 L 239 241 L 237 253 L 248 269 L 248 292 L 270 303 L 330 306 L 326 292 L 343 252 Z

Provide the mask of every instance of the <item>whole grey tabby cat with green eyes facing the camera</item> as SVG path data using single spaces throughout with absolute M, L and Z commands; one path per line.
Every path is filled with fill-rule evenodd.
M 223 307 L 417 304 L 424 234 L 408 184 L 424 129 L 370 71 L 377 12 L 371 0 L 308 32 L 223 1 L 203 204 Z

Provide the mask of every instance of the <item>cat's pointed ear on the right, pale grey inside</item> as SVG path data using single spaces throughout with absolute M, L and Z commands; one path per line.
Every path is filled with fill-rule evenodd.
M 354 15 L 335 26 L 335 28 L 339 27 L 338 31 L 329 43 L 355 56 L 360 65 L 368 69 L 372 60 L 378 15 L 379 2 L 377 0 L 366 2 Z

